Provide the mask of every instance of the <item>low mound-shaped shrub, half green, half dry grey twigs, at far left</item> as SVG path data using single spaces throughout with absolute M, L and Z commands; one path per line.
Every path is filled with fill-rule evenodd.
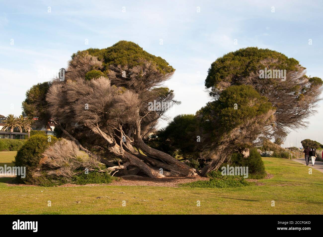
M 28 146 L 18 151 L 16 164 L 19 164 L 18 158 L 21 160 L 21 154 L 24 154 L 25 160 L 21 163 L 27 166 L 26 179 L 21 181 L 40 186 L 111 182 L 112 177 L 104 172 L 107 171 L 106 166 L 97 157 L 80 151 L 75 142 L 52 138 L 51 145 L 48 145 L 44 137 L 47 138 L 43 135 L 30 137 Z

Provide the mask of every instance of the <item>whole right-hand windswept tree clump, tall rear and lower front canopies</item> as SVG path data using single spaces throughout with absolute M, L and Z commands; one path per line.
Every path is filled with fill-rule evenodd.
M 276 143 L 281 144 L 290 129 L 306 126 L 307 118 L 315 112 L 321 99 L 322 80 L 308 77 L 305 73 L 305 68 L 296 59 L 273 50 L 250 47 L 228 53 L 211 64 L 205 80 L 205 87 L 214 101 L 198 111 L 196 118 L 188 115 L 174 118 L 166 128 L 151 137 L 149 144 L 182 154 L 198 152 L 198 159 L 204 159 L 200 164 L 206 164 L 201 174 L 218 168 L 232 152 L 239 151 L 247 156 L 248 147 L 257 145 L 261 137 L 271 139 L 275 136 Z M 249 89 L 241 87 L 245 85 Z M 256 101 L 272 105 L 270 112 L 263 115 L 265 120 L 248 116 L 247 111 L 256 108 L 252 105 Z M 218 103 L 222 105 L 218 106 Z M 222 117 L 224 114 L 226 116 Z M 182 128 L 181 135 L 188 137 L 187 144 L 177 140 L 172 133 L 174 127 L 182 124 L 193 127 L 196 124 L 193 133 Z M 245 127 L 248 129 L 241 129 Z M 241 131 L 241 134 L 233 131 Z M 201 136 L 200 143 L 193 140 L 196 135 Z M 188 144 L 189 149 L 186 147 Z

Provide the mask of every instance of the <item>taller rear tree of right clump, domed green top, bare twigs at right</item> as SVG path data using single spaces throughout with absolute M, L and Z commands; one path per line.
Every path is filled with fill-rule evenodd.
M 205 80 L 205 87 L 215 100 L 234 85 L 249 85 L 266 97 L 275 107 L 271 135 L 304 128 L 321 100 L 322 84 L 320 78 L 306 76 L 305 68 L 296 59 L 256 47 L 242 48 L 216 59 Z M 236 104 L 239 106 L 239 102 Z M 229 116 L 230 119 L 233 118 Z M 215 157 L 205 169 L 216 168 L 219 162 L 221 159 Z

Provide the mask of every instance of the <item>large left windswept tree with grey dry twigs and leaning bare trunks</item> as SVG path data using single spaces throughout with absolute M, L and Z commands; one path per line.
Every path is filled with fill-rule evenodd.
M 131 174 L 195 175 L 195 169 L 143 141 L 165 111 L 179 103 L 172 90 L 162 87 L 173 72 L 164 59 L 120 41 L 73 54 L 65 80 L 52 82 L 46 102 L 42 94 L 35 101 L 48 103 L 48 108 L 42 107 L 47 109 L 44 117 L 52 117 L 69 139 L 92 156 L 94 150 L 112 154 Z

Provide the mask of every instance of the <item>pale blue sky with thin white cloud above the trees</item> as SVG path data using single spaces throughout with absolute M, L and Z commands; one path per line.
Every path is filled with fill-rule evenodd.
M 170 119 L 212 100 L 204 88 L 207 70 L 239 48 L 276 50 L 297 59 L 308 76 L 323 78 L 322 12 L 323 3 L 311 0 L 0 0 L 0 114 L 21 114 L 26 91 L 67 68 L 73 53 L 120 40 L 139 44 L 176 69 L 165 86 L 182 103 L 167 112 Z M 300 146 L 306 138 L 323 144 L 322 106 L 282 146 Z

